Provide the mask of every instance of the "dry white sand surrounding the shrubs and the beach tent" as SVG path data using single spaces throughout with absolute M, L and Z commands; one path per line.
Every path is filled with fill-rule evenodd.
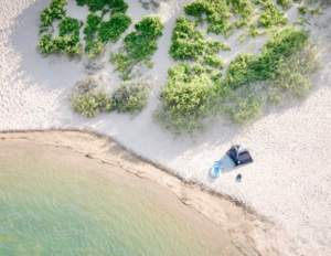
M 42 57 L 38 44 L 39 13 L 50 1 L 1 0 L 0 2 L 0 130 L 76 128 L 111 136 L 134 152 L 162 164 L 189 181 L 232 196 L 258 215 L 276 223 L 291 247 L 284 255 L 331 255 L 331 8 L 311 22 L 312 39 L 321 51 L 321 72 L 309 97 L 266 115 L 246 128 L 218 121 L 192 139 L 173 137 L 151 119 L 169 66 L 175 64 L 168 50 L 174 18 L 188 1 L 161 2 L 157 10 L 164 22 L 163 36 L 153 56 L 153 92 L 148 107 L 137 117 L 108 114 L 85 119 L 70 107 L 68 94 L 86 76 L 84 62 L 64 56 Z M 154 13 L 128 1 L 134 21 Z M 86 8 L 70 4 L 68 14 L 83 19 Z M 292 18 L 292 13 L 289 13 Z M 130 26 L 131 29 L 132 26 Z M 233 52 L 249 51 L 261 42 L 229 45 Z M 114 45 L 116 49 L 120 45 Z M 108 52 L 110 50 L 108 49 Z M 118 74 L 104 58 L 103 82 L 118 85 Z M 232 55 L 228 55 L 229 61 Z M 111 77 L 111 78 L 110 78 Z M 245 143 L 255 162 L 224 173 L 214 182 L 209 168 L 233 143 Z M 241 183 L 235 177 L 242 173 Z

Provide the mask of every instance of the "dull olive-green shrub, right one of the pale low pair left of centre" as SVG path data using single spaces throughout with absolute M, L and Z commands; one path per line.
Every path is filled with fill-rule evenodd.
M 122 113 L 137 114 L 143 109 L 150 95 L 150 84 L 125 82 L 113 95 L 113 108 Z

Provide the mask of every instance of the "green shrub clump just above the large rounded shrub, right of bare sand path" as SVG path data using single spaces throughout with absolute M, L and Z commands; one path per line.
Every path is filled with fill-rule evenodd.
M 218 53 L 220 41 L 203 38 L 204 34 L 195 29 L 192 21 L 180 17 L 175 21 L 169 53 L 174 60 L 197 60 L 206 54 Z

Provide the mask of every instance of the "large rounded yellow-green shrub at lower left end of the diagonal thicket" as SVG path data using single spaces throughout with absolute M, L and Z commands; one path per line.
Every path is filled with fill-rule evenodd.
M 175 134 L 204 128 L 204 118 L 213 111 L 216 96 L 210 72 L 200 64 L 191 67 L 185 62 L 170 67 L 156 120 Z

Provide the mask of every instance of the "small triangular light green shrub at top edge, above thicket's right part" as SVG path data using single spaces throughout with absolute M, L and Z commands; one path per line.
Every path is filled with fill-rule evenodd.
M 258 18 L 259 26 L 271 28 L 288 24 L 288 19 L 271 1 L 264 2 L 263 10 L 264 12 Z

